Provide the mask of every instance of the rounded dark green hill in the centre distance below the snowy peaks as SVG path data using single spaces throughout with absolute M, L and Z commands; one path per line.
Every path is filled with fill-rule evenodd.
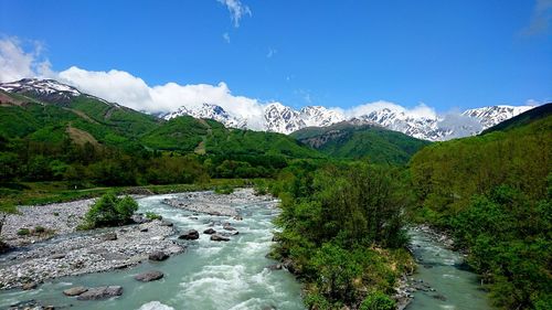
M 335 158 L 365 158 L 376 163 L 406 163 L 429 143 L 380 126 L 350 122 L 304 128 L 290 136 Z

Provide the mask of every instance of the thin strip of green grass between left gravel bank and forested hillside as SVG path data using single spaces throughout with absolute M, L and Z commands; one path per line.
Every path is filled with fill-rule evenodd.
M 137 189 L 152 194 L 208 191 L 215 190 L 216 188 L 251 186 L 252 182 L 252 180 L 247 179 L 212 179 L 208 183 L 202 184 L 88 188 L 78 190 L 71 189 L 67 182 L 23 182 L 17 189 L 13 189 L 13 186 L 4 189 L 0 185 L 0 204 L 43 205 L 97 197 L 107 192 L 128 194 L 135 192 Z

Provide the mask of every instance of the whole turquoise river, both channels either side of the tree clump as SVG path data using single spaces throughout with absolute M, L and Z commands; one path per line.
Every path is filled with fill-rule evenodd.
M 229 221 L 227 216 L 198 215 L 162 203 L 172 196 L 139 199 L 139 212 L 160 214 L 183 232 L 193 228 L 201 233 L 210 222 Z M 244 218 L 232 221 L 240 234 L 227 243 L 212 242 L 209 235 L 200 234 L 198 240 L 185 242 L 185 253 L 166 261 L 146 261 L 123 270 L 59 278 L 30 291 L 1 291 L 0 309 L 30 299 L 75 309 L 305 309 L 301 286 L 294 276 L 286 270 L 266 268 L 276 263 L 265 257 L 273 244 L 275 227 L 272 221 L 279 212 L 274 205 L 274 202 L 261 200 L 233 205 Z M 461 255 L 446 249 L 424 229 L 412 228 L 410 235 L 411 248 L 418 263 L 413 276 L 418 290 L 413 292 L 414 299 L 407 310 L 491 309 L 477 276 L 463 268 Z M 164 277 L 147 284 L 134 279 L 135 275 L 148 270 L 160 270 Z M 78 301 L 62 295 L 64 289 L 74 286 L 106 285 L 123 286 L 123 296 L 103 301 Z

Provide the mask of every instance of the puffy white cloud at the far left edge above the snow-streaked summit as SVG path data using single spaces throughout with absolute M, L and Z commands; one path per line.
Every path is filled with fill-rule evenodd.
M 13 36 L 0 39 L 0 82 L 51 74 L 50 62 L 42 57 L 42 44 L 31 42 L 30 52 L 23 51 L 22 44 Z

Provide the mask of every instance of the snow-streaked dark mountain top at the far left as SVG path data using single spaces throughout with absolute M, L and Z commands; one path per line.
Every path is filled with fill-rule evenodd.
M 30 95 L 41 101 L 67 104 L 73 97 L 82 95 L 75 87 L 54 79 L 23 78 L 17 82 L 1 83 L 0 89 L 8 93 Z

